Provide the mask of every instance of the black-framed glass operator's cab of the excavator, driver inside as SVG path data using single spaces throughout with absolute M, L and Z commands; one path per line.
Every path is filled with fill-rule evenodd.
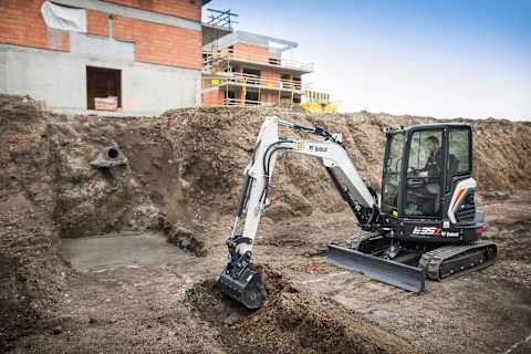
M 402 220 L 452 221 L 449 201 L 458 184 L 471 178 L 471 156 L 472 132 L 467 124 L 388 131 L 382 214 Z M 460 221 L 473 221 L 476 217 L 473 192 L 475 188 L 468 188 L 467 202 L 458 210 Z

